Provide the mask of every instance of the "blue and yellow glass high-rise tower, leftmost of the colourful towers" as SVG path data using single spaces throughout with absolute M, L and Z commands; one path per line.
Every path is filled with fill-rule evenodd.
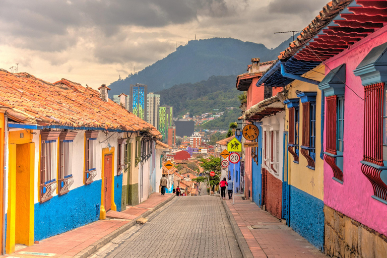
M 144 121 L 147 121 L 147 92 L 147 85 L 140 83 L 136 83 L 136 85 L 131 84 L 130 101 L 127 109 Z

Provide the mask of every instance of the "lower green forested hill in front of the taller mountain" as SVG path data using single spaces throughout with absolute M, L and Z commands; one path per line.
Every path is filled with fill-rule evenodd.
M 235 75 L 211 76 L 205 81 L 174 85 L 155 94 L 160 94 L 160 104 L 173 106 L 174 116 L 186 112 L 201 115 L 214 109 L 223 112 L 226 107 L 240 105 L 241 92 L 235 88 L 235 81 Z

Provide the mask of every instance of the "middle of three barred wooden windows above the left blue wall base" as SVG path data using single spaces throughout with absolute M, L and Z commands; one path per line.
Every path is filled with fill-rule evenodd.
M 73 142 L 77 132 L 61 132 L 59 135 L 58 195 L 70 191 L 73 179 Z

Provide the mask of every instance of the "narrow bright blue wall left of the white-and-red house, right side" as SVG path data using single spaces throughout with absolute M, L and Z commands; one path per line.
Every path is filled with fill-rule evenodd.
M 262 164 L 262 128 L 260 122 L 254 122 L 258 127 L 260 135 L 258 137 L 258 143 L 260 147 L 258 148 L 258 164 L 255 163 L 254 159 L 251 159 L 252 164 L 252 201 L 261 206 L 262 202 L 262 174 L 261 174 L 261 164 Z

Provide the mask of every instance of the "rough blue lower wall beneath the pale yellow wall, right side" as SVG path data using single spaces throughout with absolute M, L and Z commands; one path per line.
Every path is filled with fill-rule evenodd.
M 324 251 L 324 202 L 290 185 L 290 226 Z

